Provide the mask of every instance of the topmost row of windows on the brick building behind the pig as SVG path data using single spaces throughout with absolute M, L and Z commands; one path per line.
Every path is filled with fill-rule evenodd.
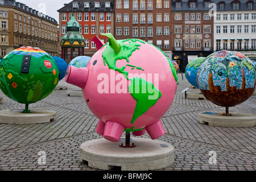
M 117 0 L 116 3 L 116 9 L 129 9 L 129 0 L 124 0 L 123 1 L 123 6 L 122 6 L 122 1 Z M 153 10 L 153 0 L 147 0 L 147 10 Z M 133 10 L 137 11 L 139 7 L 139 10 L 146 10 L 146 1 L 145 0 L 133 0 Z M 162 7 L 164 8 L 170 8 L 170 1 L 169 0 L 157 0 L 155 7 L 157 9 L 161 9 Z

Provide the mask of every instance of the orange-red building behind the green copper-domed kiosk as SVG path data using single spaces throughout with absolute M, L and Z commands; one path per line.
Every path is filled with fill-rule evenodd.
M 64 4 L 59 12 L 59 36 L 60 38 L 67 32 L 67 23 L 72 14 L 75 15 L 80 24 L 80 34 L 84 36 L 84 55 L 92 56 L 97 50 L 94 42 L 91 41 L 94 36 L 98 36 L 102 42 L 107 43 L 108 38 L 102 36 L 104 33 L 114 34 L 114 1 L 90 1 L 74 0 Z

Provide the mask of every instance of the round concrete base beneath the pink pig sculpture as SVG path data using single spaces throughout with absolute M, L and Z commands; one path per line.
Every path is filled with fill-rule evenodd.
M 123 148 L 106 139 L 90 140 L 80 146 L 80 162 L 103 170 L 121 167 L 122 171 L 146 171 L 174 163 L 174 147 L 170 143 L 133 138 L 136 147 Z

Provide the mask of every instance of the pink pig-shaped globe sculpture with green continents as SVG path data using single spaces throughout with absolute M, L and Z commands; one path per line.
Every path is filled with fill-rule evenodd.
M 105 139 L 118 142 L 123 131 L 161 137 L 165 131 L 160 118 L 177 88 L 174 65 L 150 43 L 102 35 L 109 43 L 94 37 L 98 51 L 85 68 L 69 66 L 65 81 L 82 88 L 86 104 L 99 119 L 96 131 Z

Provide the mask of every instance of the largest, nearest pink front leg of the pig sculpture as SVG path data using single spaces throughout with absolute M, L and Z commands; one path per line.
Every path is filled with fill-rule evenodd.
M 104 138 L 111 142 L 118 142 L 125 127 L 118 122 L 106 121 Z

